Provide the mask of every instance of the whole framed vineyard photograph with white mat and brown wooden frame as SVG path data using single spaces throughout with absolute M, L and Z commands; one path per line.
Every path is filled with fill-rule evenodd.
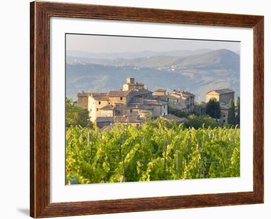
M 264 202 L 264 17 L 33 1 L 33 218 Z

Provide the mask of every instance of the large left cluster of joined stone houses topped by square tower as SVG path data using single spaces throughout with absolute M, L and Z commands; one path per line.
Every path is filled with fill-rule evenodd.
M 166 101 L 152 99 L 152 91 L 144 88 L 143 83 L 135 82 L 134 78 L 127 78 L 122 91 L 109 91 L 108 93 L 78 93 L 78 105 L 88 109 L 90 120 L 99 127 L 115 122 L 118 116 L 128 116 L 127 124 L 136 125 L 150 115 L 157 118 L 168 114 Z M 131 117 L 133 116 L 133 117 Z M 131 118 L 142 118 L 136 120 Z M 102 119 L 107 118 L 107 119 Z M 121 121 L 124 121 L 122 119 Z

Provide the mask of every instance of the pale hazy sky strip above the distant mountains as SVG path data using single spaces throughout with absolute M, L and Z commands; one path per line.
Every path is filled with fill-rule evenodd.
M 66 34 L 67 50 L 91 53 L 123 53 L 145 50 L 165 52 L 186 49 L 229 49 L 235 52 L 239 51 L 239 47 L 239 42 L 231 41 Z

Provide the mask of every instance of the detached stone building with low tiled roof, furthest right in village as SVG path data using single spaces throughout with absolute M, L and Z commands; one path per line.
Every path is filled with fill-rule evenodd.
M 231 89 L 211 90 L 205 94 L 205 102 L 215 98 L 220 103 L 229 104 L 230 100 L 235 101 L 235 92 Z

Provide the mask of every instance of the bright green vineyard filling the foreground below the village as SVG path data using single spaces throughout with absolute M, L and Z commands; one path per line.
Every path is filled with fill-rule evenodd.
M 161 119 L 140 127 L 66 129 L 66 184 L 239 177 L 240 130 L 184 128 Z

